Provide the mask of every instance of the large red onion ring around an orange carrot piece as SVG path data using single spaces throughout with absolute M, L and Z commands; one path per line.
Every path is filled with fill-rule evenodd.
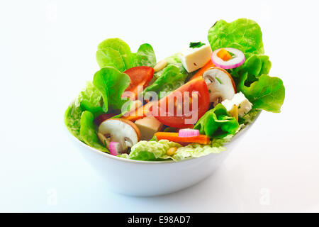
M 217 56 L 217 53 L 220 51 L 220 49 L 214 50 L 213 53 L 211 54 L 211 61 L 217 67 L 221 67 L 221 68 L 227 70 L 227 69 L 233 69 L 235 67 L 238 67 L 238 66 L 244 64 L 245 55 L 242 51 L 237 50 L 235 48 L 224 48 L 225 50 L 227 50 L 228 52 L 231 52 L 233 54 L 232 59 L 230 59 L 228 61 L 224 61 L 223 59 L 221 59 L 220 57 Z

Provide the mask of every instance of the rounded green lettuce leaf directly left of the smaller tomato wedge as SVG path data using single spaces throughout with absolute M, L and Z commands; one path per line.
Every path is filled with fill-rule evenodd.
M 121 109 L 127 99 L 121 99 L 121 95 L 130 84 L 130 77 L 114 67 L 104 67 L 93 78 L 94 86 L 103 96 L 104 109 Z

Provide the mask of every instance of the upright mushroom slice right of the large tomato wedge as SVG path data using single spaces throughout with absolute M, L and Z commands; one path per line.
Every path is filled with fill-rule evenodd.
M 209 101 L 213 102 L 214 106 L 225 99 L 233 99 L 236 86 L 233 77 L 226 70 L 211 67 L 203 73 L 203 79 L 208 87 Z

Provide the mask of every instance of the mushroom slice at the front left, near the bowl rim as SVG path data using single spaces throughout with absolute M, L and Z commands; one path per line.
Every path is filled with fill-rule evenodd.
M 107 148 L 111 142 L 118 142 L 118 154 L 121 154 L 128 153 L 128 148 L 132 148 L 135 143 L 138 143 L 140 130 L 132 121 L 113 118 L 100 124 L 98 136 Z

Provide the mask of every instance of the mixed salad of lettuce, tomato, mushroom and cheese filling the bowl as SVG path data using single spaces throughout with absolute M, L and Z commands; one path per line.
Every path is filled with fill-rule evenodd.
M 100 70 L 65 111 L 69 132 L 110 155 L 180 161 L 224 152 L 260 111 L 280 112 L 284 84 L 255 21 L 220 20 L 195 41 L 157 62 L 148 43 L 104 40 Z

